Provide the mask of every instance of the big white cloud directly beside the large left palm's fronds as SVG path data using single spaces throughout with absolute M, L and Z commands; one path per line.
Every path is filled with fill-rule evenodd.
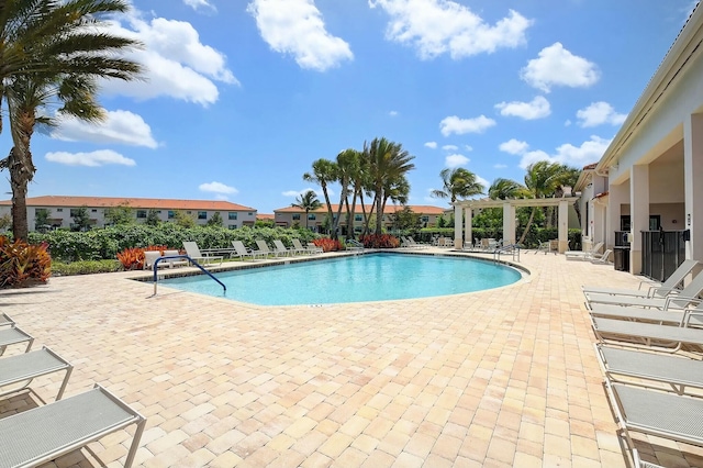
M 200 42 L 198 31 L 188 22 L 154 18 L 144 21 L 140 12 L 124 16 L 127 25 L 113 22 L 110 33 L 137 40 L 143 49 L 125 54 L 144 66 L 142 79 L 125 82 L 103 80 L 108 93 L 152 99 L 160 96 L 208 105 L 217 101 L 213 82 L 238 85 L 226 67 L 226 57 Z

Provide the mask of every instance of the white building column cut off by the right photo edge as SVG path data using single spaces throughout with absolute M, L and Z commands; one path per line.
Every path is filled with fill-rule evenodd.
M 683 122 L 685 230 L 691 233 L 685 257 L 703 260 L 703 114 Z M 696 203 L 698 200 L 698 203 Z

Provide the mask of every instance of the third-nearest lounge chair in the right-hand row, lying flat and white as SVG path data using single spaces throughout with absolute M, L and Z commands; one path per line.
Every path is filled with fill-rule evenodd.
M 676 353 L 683 345 L 703 346 L 703 328 L 658 325 L 591 316 L 593 333 L 601 343 L 617 343 Z

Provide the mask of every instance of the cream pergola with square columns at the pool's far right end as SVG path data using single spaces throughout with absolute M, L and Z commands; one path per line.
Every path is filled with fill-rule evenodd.
M 569 247 L 569 205 L 579 200 L 579 197 L 562 198 L 533 198 L 512 200 L 462 200 L 454 202 L 454 246 L 464 247 L 464 212 L 466 212 L 466 238 L 471 242 L 471 221 L 475 209 L 502 208 L 503 209 L 503 242 L 515 244 L 515 208 L 522 207 L 559 207 L 559 253 L 565 253 Z

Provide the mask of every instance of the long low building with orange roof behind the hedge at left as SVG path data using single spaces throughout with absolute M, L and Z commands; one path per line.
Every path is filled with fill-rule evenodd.
M 196 223 L 201 225 L 207 224 L 215 213 L 220 213 L 222 225 L 231 230 L 254 225 L 256 221 L 254 208 L 228 201 L 45 196 L 26 199 L 30 231 L 35 231 L 38 210 L 47 211 L 47 224 L 52 229 L 60 229 L 71 227 L 76 212 L 83 207 L 88 210 L 90 222 L 96 227 L 104 227 L 105 211 L 118 207 L 129 207 L 136 222 L 145 222 L 150 210 L 155 210 L 163 222 L 174 222 L 176 213 L 180 211 L 192 216 Z M 11 200 L 0 201 L 0 216 L 10 214 L 11 208 Z

